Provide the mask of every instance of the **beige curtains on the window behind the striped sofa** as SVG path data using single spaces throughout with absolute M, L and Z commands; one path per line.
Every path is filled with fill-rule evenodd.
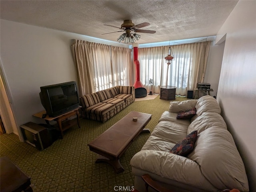
M 130 85 L 131 49 L 74 40 L 80 96 L 116 85 Z

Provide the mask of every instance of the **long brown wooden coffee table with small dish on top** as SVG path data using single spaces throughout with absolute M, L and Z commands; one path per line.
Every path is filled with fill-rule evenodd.
M 90 151 L 100 154 L 96 163 L 107 162 L 114 167 L 116 173 L 124 171 L 119 159 L 140 132 L 150 132 L 144 127 L 151 120 L 151 116 L 151 114 L 130 112 L 90 142 L 88 144 Z M 137 117 L 138 120 L 132 120 L 133 117 Z

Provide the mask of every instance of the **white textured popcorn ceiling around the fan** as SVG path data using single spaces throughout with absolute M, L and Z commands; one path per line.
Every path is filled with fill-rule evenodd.
M 0 18 L 115 41 L 123 20 L 141 29 L 140 44 L 216 35 L 238 0 L 0 0 Z

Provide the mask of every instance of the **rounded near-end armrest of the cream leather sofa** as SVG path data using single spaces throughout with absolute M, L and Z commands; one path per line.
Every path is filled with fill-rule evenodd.
M 214 188 L 212 184 L 204 178 L 200 166 L 195 161 L 173 153 L 142 150 L 132 157 L 130 164 L 137 169 L 180 183 Z

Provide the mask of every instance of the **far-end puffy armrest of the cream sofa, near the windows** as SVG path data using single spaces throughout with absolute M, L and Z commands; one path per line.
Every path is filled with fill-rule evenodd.
M 198 100 L 192 99 L 192 100 L 186 100 L 186 101 L 171 101 L 170 102 L 170 107 L 169 107 L 169 112 L 172 113 L 178 113 L 182 111 L 187 111 L 196 106 Z

